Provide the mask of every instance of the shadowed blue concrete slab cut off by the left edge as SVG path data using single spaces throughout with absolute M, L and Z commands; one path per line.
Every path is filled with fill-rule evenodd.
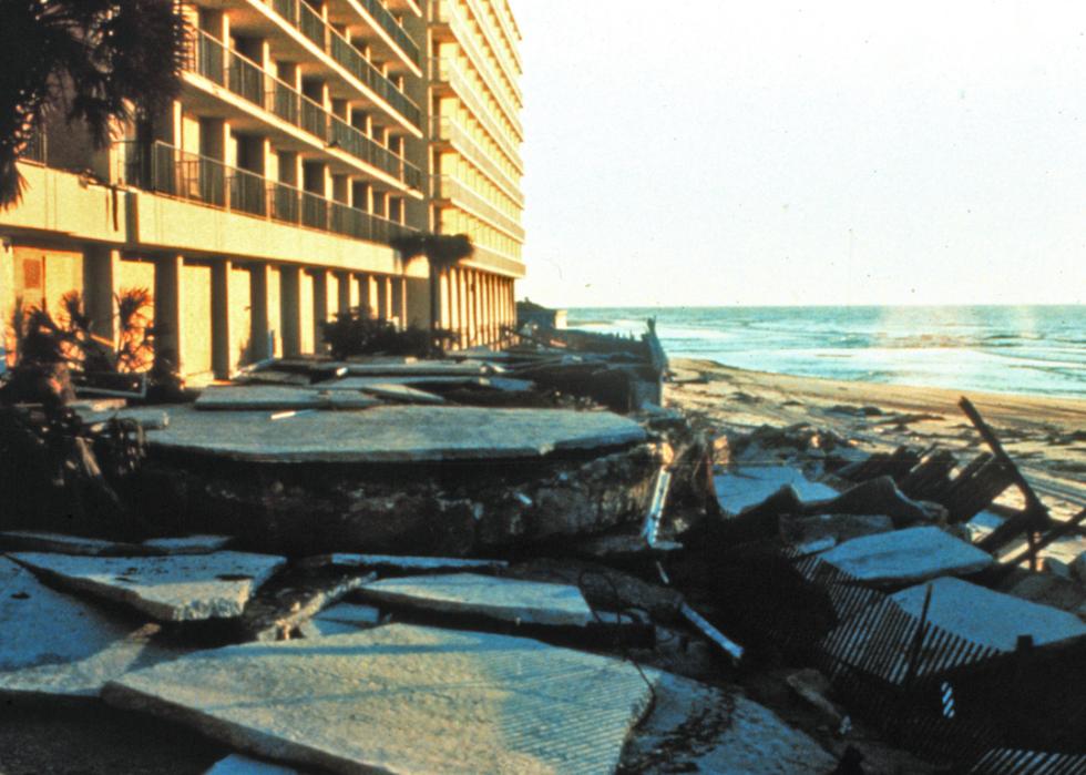
M 184 653 L 158 643 L 157 630 L 57 592 L 0 558 L 0 694 L 96 696 L 130 670 Z

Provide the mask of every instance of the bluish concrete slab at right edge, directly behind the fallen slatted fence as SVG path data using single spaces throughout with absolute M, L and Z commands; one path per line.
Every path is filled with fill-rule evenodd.
M 928 587 L 918 584 L 891 596 L 919 618 Z M 1086 635 L 1086 624 L 1072 613 L 993 592 L 961 579 L 935 579 L 931 589 L 928 621 L 973 643 L 1014 651 L 1020 635 L 1029 635 L 1035 645 Z

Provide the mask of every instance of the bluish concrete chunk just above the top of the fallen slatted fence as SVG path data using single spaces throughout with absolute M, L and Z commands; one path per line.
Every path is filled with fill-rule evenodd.
M 976 573 L 994 562 L 987 552 L 931 526 L 854 538 L 830 549 L 822 559 L 869 584 L 908 584 Z

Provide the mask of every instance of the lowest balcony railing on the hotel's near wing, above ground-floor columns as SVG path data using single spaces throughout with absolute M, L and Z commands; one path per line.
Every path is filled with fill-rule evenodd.
M 414 230 L 165 143 L 124 146 L 124 183 L 227 212 L 388 243 Z

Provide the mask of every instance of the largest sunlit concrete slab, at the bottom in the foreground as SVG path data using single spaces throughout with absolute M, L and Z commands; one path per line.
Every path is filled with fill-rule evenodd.
M 649 696 L 615 659 L 402 624 L 197 652 L 103 692 L 303 767 L 465 774 L 612 773 Z

